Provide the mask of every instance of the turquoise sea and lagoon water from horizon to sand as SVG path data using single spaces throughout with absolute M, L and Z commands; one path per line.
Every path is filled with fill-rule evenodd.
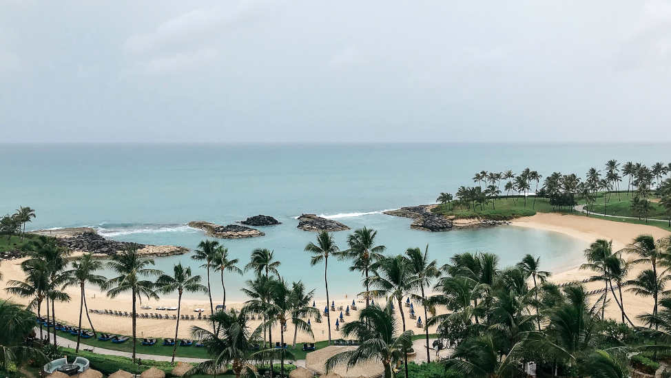
M 670 145 L 0 145 L 0 213 L 19 204 L 37 209 L 30 229 L 94 227 L 107 238 L 195 248 L 205 236 L 185 224 L 229 224 L 259 213 L 282 224 L 260 238 L 220 240 L 247 262 L 257 247 L 273 249 L 286 280 L 303 280 L 323 297 L 323 266 L 310 266 L 305 244 L 314 233 L 296 229 L 296 216 L 317 213 L 352 229 L 378 230 L 389 253 L 429 244 L 441 264 L 454 253 L 497 253 L 503 265 L 526 253 L 547 269 L 577 264 L 585 243 L 566 235 L 519 227 L 428 233 L 384 209 L 435 201 L 440 191 L 473 185 L 475 171 L 530 167 L 584 174 L 610 158 L 648 164 L 669 160 Z M 344 248 L 347 231 L 336 233 Z M 157 258 L 198 273 L 189 255 Z M 347 262 L 329 262 L 336 298 L 360 291 Z M 244 299 L 244 277 L 227 277 L 227 295 Z M 215 281 L 217 282 L 217 281 Z M 213 291 L 220 289 L 214 284 Z

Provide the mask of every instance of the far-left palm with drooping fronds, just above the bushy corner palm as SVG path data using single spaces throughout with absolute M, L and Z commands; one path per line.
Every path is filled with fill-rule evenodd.
M 5 290 L 11 295 L 17 295 L 17 297 L 32 297 L 32 300 L 28 302 L 27 308 L 37 308 L 37 317 L 41 318 L 42 302 L 47 298 L 49 291 L 47 269 L 44 266 L 44 262 L 40 260 L 23 264 L 22 268 L 25 273 L 25 281 L 11 280 L 7 282 L 10 287 L 5 288 Z M 48 306 L 47 315 L 49 315 Z M 42 334 L 42 322 L 39 322 L 39 337 L 40 340 L 44 339 Z

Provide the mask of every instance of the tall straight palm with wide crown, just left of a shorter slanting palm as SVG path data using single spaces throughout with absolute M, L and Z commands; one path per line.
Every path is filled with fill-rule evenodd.
M 116 253 L 116 255 L 112 256 L 112 261 L 107 263 L 107 268 L 116 272 L 118 276 L 107 280 L 103 285 L 103 290 L 107 291 L 107 296 L 110 298 L 117 297 L 119 294 L 127 293 L 129 291 L 131 293 L 133 314 L 133 359 L 135 359 L 135 349 L 137 344 L 136 302 L 137 300 L 142 302 L 142 297 L 146 297 L 147 300 L 149 298 L 158 300 L 158 295 L 156 295 L 156 292 L 154 291 L 154 282 L 143 280 L 143 277 L 157 276 L 163 273 L 157 269 L 147 268 L 149 265 L 154 265 L 154 260 L 143 258 L 136 248 L 130 248 L 127 249 L 127 251 Z

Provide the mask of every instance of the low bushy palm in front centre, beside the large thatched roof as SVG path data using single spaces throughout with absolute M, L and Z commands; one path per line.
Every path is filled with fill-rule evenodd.
M 355 350 L 338 353 L 327 359 L 326 368 L 347 364 L 351 368 L 360 361 L 379 360 L 384 366 L 384 378 L 392 378 L 392 366 L 398 364 L 405 350 L 412 346 L 412 330 L 398 334 L 398 320 L 391 307 L 378 305 L 364 308 L 359 319 L 342 326 L 343 337 L 355 337 L 360 342 Z

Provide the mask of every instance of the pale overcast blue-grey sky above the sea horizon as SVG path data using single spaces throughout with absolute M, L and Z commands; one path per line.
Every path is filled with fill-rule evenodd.
M 0 143 L 671 141 L 670 1 L 0 10 Z

